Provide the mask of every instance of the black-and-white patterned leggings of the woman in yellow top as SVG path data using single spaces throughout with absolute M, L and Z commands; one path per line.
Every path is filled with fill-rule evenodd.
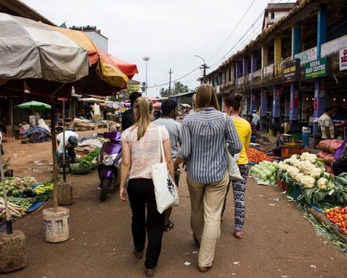
M 230 181 L 232 183 L 232 189 L 235 199 L 235 231 L 242 231 L 244 226 L 244 193 L 246 190 L 246 182 L 248 177 L 248 164 L 239 164 L 239 172 L 243 179 L 237 179 Z M 230 183 L 226 191 L 226 197 L 228 196 Z M 221 211 L 221 217 L 223 217 L 224 210 L 226 209 L 226 197 L 224 199 L 223 210 Z

